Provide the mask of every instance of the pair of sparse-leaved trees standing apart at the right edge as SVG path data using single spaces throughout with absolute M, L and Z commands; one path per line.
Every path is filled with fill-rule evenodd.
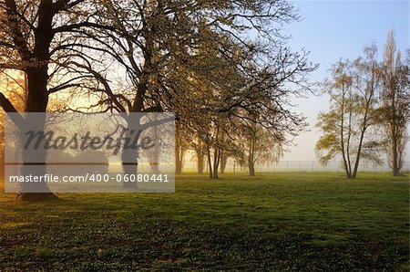
M 399 175 L 408 141 L 410 120 L 410 51 L 402 60 L 389 32 L 383 60 L 377 47 L 364 48 L 364 57 L 340 60 L 323 84 L 331 109 L 319 115 L 323 136 L 316 144 L 324 164 L 341 158 L 347 178 L 355 178 L 362 159 L 380 163 L 384 152 L 393 175 Z

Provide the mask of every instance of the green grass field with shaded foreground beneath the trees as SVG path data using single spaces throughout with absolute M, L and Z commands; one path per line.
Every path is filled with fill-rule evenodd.
M 0 270 L 409 269 L 408 176 L 183 175 L 176 191 L 0 193 Z

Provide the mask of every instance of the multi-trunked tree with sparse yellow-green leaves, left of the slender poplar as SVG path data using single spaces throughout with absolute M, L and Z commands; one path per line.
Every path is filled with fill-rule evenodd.
M 347 178 L 356 177 L 361 159 L 381 162 L 381 143 L 371 133 L 378 119 L 380 68 L 374 46 L 365 47 L 364 53 L 365 58 L 353 63 L 339 61 L 333 66 L 333 78 L 323 84 L 331 110 L 320 113 L 316 125 L 324 133 L 315 147 L 320 162 L 326 164 L 342 157 Z

